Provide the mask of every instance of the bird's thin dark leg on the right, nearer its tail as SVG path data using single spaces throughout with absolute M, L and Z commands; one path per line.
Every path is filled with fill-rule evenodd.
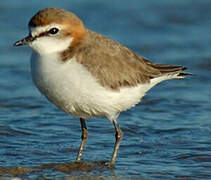
M 120 129 L 119 125 L 117 124 L 116 119 L 113 121 L 113 124 L 114 124 L 115 132 L 116 132 L 116 134 L 115 134 L 116 142 L 115 142 L 114 152 L 113 152 L 113 155 L 112 155 L 112 158 L 111 158 L 111 165 L 112 166 L 115 164 L 117 153 L 118 153 L 119 146 L 120 146 L 120 142 L 121 142 L 122 136 L 123 136 L 123 132 Z

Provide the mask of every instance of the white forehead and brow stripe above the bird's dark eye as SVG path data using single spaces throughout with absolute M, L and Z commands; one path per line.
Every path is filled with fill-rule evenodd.
M 48 25 L 45 25 L 45 26 L 37 26 L 37 27 L 29 27 L 29 31 L 30 33 L 32 34 L 32 36 L 36 36 L 36 35 L 39 35 L 40 33 L 42 32 L 47 32 L 49 31 L 51 28 L 57 28 L 57 29 L 63 29 L 63 25 L 61 24 L 48 24 Z

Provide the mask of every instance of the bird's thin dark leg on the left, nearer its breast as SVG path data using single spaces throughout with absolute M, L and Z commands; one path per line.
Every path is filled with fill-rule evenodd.
M 81 131 L 82 131 L 82 134 L 81 134 L 82 141 L 81 141 L 81 146 L 80 146 L 80 149 L 78 151 L 78 156 L 77 156 L 77 159 L 76 159 L 77 162 L 80 162 L 80 160 L 81 160 L 81 157 L 82 157 L 82 154 L 83 154 L 83 151 L 84 151 L 84 147 L 85 147 L 85 144 L 86 144 L 86 141 L 87 141 L 87 138 L 88 138 L 88 130 L 87 130 L 87 127 L 86 127 L 85 119 L 80 118 L 80 122 L 81 122 Z

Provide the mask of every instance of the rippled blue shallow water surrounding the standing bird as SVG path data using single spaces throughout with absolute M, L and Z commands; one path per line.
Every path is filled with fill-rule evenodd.
M 83 159 L 92 168 L 55 170 L 74 164 L 80 123 L 36 90 L 30 49 L 12 47 L 28 33 L 30 17 L 50 6 L 77 13 L 88 28 L 154 62 L 184 65 L 195 74 L 154 87 L 120 115 L 124 137 L 113 170 L 95 166 L 110 159 L 114 145 L 113 126 L 103 118 L 87 122 Z M 1 177 L 211 179 L 210 7 L 210 0 L 1 1 Z M 42 168 L 32 171 L 36 167 Z

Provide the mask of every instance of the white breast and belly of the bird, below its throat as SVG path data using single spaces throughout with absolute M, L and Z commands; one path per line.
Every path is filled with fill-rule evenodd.
M 135 104 L 151 87 L 149 84 L 113 91 L 102 87 L 97 79 L 74 58 L 61 62 L 57 55 L 31 59 L 32 77 L 37 88 L 63 111 L 82 118 L 112 117 Z

